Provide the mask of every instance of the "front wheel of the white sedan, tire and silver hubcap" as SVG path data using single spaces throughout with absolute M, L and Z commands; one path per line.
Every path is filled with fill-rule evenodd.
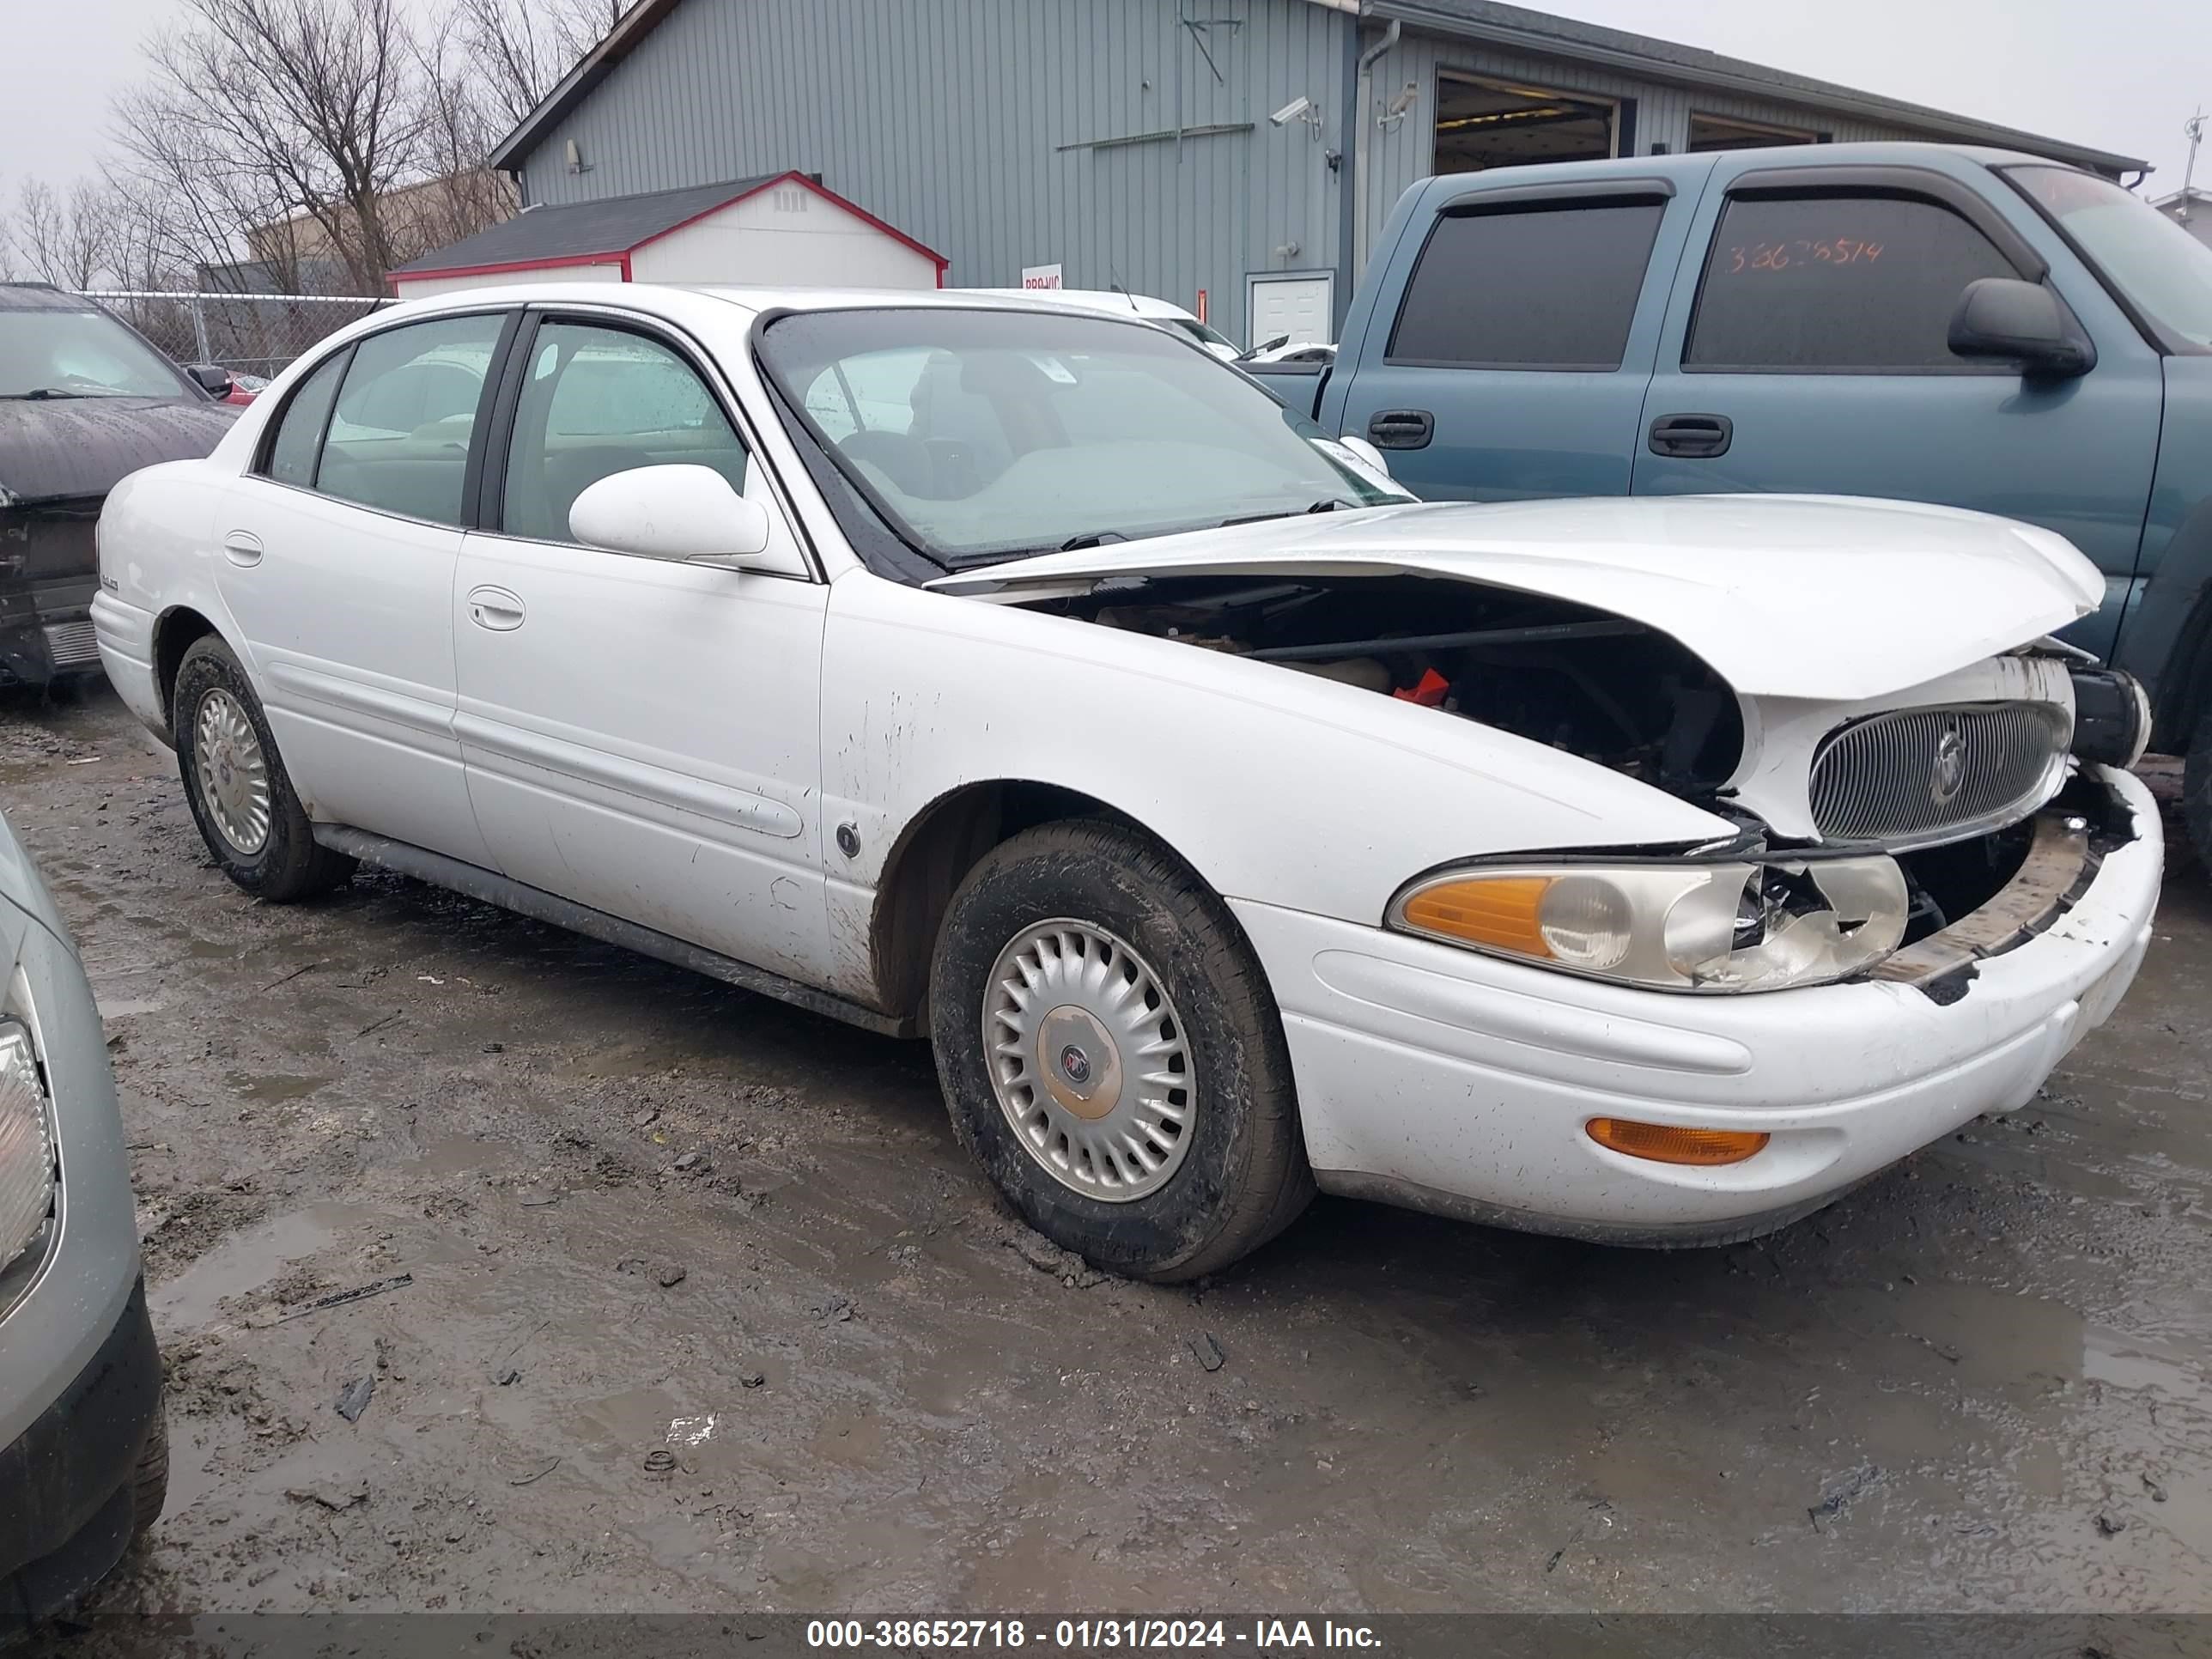
M 953 894 L 929 982 L 953 1130 L 1055 1243 L 1197 1279 L 1314 1192 L 1290 1051 L 1234 918 L 1113 823 L 1026 830 Z

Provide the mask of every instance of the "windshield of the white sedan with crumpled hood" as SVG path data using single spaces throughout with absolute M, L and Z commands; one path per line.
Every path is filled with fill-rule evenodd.
M 761 361 L 900 540 L 945 566 L 1407 500 L 1144 323 L 799 312 L 768 325 Z

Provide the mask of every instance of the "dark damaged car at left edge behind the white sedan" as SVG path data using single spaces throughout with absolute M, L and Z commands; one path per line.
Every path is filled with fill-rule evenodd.
M 206 456 L 234 418 L 93 301 L 0 283 L 0 686 L 100 668 L 100 502 L 124 473 Z

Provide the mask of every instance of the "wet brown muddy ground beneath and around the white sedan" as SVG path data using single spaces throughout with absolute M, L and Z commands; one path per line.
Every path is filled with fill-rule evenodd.
M 1004 1219 L 918 1044 L 394 876 L 250 902 L 106 690 L 0 706 L 0 805 L 168 1354 L 111 1606 L 2212 1608 L 2194 867 L 2042 1099 L 1776 1239 L 1321 1201 L 1157 1290 Z

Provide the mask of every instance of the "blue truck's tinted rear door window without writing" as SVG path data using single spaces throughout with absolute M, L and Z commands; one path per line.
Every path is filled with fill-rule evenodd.
M 1447 212 L 1420 250 L 1389 361 L 1460 369 L 1621 367 L 1663 201 Z

